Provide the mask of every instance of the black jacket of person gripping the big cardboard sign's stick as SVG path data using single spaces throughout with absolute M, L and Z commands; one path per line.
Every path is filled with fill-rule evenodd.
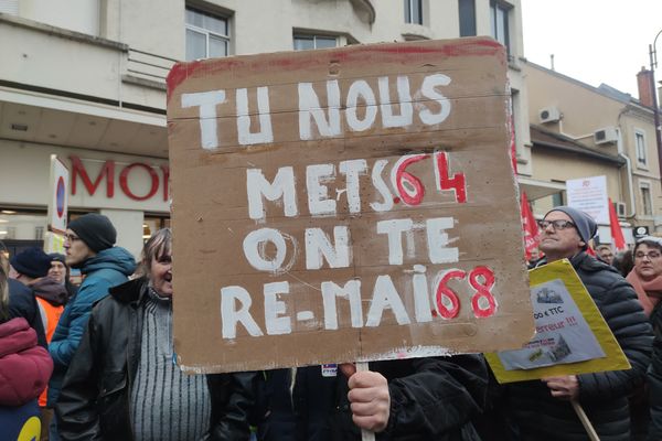
M 471 418 L 482 410 L 487 391 L 481 355 L 374 362 L 370 369 L 386 377 L 391 395 L 388 424 L 377 440 L 480 440 Z M 260 441 L 361 440 L 340 369 L 331 378 L 321 376 L 320 366 L 297 369 L 291 396 L 289 373 L 266 374 Z

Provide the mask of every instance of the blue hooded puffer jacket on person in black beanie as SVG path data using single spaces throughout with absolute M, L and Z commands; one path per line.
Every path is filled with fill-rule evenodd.
M 121 247 L 99 251 L 83 263 L 81 272 L 85 275 L 85 280 L 77 294 L 66 304 L 49 345 L 55 364 L 49 384 L 50 407 L 57 400 L 66 369 L 87 326 L 93 303 L 106 297 L 111 287 L 126 282 L 135 269 L 134 256 Z

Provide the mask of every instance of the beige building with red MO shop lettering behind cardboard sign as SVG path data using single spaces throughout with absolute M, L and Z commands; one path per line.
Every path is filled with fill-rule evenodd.
M 177 61 L 210 56 L 492 35 L 509 50 L 531 174 L 521 30 L 520 0 L 3 0 L 0 240 L 39 243 L 57 154 L 76 169 L 70 212 L 108 215 L 137 252 L 169 223 L 164 78 Z

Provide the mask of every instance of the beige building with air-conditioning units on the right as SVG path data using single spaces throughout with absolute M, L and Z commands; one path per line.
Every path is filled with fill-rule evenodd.
M 521 175 L 534 214 L 567 202 L 566 181 L 606 176 L 626 239 L 633 228 L 662 232 L 662 191 L 653 111 L 609 86 L 591 87 L 527 63 L 531 175 Z M 610 243 L 609 226 L 600 241 Z

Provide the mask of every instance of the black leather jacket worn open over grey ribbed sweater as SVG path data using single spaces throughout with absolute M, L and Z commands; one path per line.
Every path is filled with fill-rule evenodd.
M 146 280 L 110 289 L 90 315 L 55 406 L 64 440 L 131 440 L 130 390 L 140 361 Z M 211 440 L 248 440 L 256 374 L 207 375 Z

